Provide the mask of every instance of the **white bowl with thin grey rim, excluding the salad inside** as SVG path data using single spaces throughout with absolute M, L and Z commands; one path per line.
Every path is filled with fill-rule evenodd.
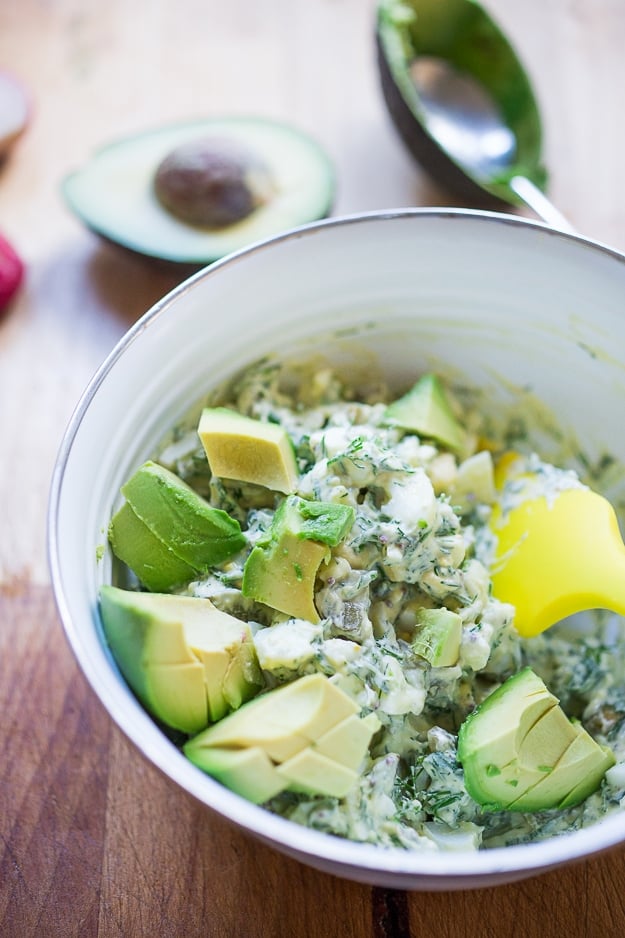
M 598 454 L 625 461 L 625 257 L 486 212 L 408 210 L 306 226 L 196 274 L 130 329 L 86 389 L 54 470 L 49 554 L 69 642 L 137 748 L 183 789 L 320 869 L 404 889 L 533 875 L 625 840 L 625 812 L 531 845 L 432 855 L 340 840 L 273 816 L 193 766 L 129 691 L 97 612 L 99 545 L 121 483 L 207 390 L 270 353 L 332 350 L 393 380 L 435 367 L 486 390 L 493 413 L 530 387 Z M 346 365 L 347 366 L 347 365 Z

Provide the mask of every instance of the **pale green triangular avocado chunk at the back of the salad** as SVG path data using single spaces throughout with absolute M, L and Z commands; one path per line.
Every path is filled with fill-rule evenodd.
M 436 440 L 456 452 L 466 445 L 465 431 L 437 375 L 422 375 L 406 394 L 389 404 L 384 422 Z

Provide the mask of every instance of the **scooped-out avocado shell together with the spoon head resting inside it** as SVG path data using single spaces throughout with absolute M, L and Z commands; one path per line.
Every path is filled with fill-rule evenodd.
M 380 0 L 376 39 L 391 119 L 439 184 L 493 208 L 520 203 L 510 185 L 514 176 L 545 188 L 536 96 L 516 51 L 481 4 Z

